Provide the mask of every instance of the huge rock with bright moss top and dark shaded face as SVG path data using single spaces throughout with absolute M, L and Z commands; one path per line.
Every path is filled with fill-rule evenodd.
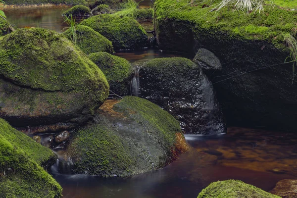
M 283 7 L 297 6 L 296 1 L 282 2 Z M 284 64 L 290 52 L 283 40 L 297 28 L 297 12 L 277 3 L 264 5 L 261 13 L 223 8 L 215 15 L 210 1 L 187 4 L 156 0 L 160 49 L 194 56 L 204 48 L 217 56 L 221 69 L 206 74 L 228 125 L 296 131 L 297 78 L 293 62 Z

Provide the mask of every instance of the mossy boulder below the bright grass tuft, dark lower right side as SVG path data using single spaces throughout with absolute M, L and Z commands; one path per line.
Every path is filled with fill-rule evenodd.
M 116 50 L 141 49 L 148 44 L 146 31 L 132 17 L 100 14 L 84 20 L 81 25 L 89 26 L 106 37 Z

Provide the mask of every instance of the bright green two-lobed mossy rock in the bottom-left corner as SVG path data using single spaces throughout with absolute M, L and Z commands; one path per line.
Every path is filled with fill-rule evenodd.
M 62 197 L 62 188 L 44 170 L 55 160 L 56 155 L 49 148 L 0 118 L 0 197 Z

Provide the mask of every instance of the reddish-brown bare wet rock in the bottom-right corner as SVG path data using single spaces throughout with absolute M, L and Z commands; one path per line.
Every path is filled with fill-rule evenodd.
M 281 180 L 269 193 L 282 198 L 297 198 L 297 180 Z

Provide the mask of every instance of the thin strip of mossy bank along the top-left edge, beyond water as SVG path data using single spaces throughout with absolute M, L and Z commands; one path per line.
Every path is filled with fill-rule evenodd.
M 8 5 L 30 5 L 30 4 L 67 4 L 67 5 L 88 5 L 86 0 L 5 0 Z

